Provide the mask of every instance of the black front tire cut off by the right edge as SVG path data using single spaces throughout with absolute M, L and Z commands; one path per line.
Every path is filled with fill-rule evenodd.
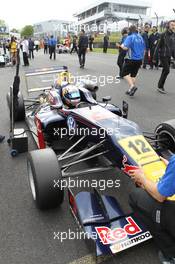
M 175 153 L 175 119 L 166 121 L 158 125 L 155 129 L 156 139 L 165 139 L 158 142 L 158 146 Z

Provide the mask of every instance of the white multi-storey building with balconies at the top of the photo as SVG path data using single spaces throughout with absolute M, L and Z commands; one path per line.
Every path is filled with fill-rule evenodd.
M 78 26 L 84 25 L 87 31 L 117 31 L 119 21 L 129 24 L 143 24 L 151 18 L 151 2 L 142 0 L 98 0 L 74 14 Z M 97 30 L 95 30 L 97 28 Z M 88 30 L 92 29 L 92 30 Z

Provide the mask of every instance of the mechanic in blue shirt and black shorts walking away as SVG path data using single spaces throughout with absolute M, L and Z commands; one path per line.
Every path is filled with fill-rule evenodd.
M 123 50 L 128 50 L 129 57 L 125 59 L 122 77 L 124 77 L 129 84 L 129 90 L 126 94 L 133 96 L 138 89 L 135 86 L 136 76 L 142 65 L 145 52 L 145 42 L 138 33 L 136 26 L 130 26 L 129 35 L 120 47 Z

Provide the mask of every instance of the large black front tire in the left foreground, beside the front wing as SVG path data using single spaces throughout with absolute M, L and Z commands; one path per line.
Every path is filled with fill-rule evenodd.
M 28 154 L 27 170 L 33 200 L 40 210 L 56 208 L 63 203 L 61 168 L 55 152 L 50 149 L 34 150 Z M 54 186 L 60 182 L 59 186 Z

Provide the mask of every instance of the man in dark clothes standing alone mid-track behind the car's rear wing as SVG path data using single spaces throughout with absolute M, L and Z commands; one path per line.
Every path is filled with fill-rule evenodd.
M 80 32 L 80 37 L 78 41 L 78 57 L 80 62 L 80 68 L 84 68 L 85 60 L 86 60 L 86 51 L 88 48 L 88 37 L 85 35 L 84 29 Z

